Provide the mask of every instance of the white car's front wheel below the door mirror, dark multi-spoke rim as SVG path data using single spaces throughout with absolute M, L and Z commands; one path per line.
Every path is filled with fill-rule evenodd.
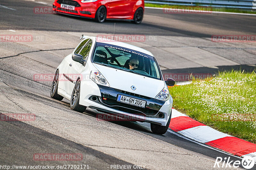
M 83 113 L 86 109 L 86 106 L 80 105 L 79 100 L 80 100 L 80 86 L 81 86 L 81 81 L 78 79 L 76 81 L 75 87 L 73 89 L 71 99 L 70 99 L 70 108 L 72 110 L 78 111 Z

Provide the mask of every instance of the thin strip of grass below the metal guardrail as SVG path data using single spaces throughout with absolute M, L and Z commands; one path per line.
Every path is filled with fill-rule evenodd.
M 164 4 L 151 4 L 151 3 L 145 3 L 145 6 L 148 7 L 158 7 L 158 8 L 177 8 L 177 7 L 189 7 L 192 8 L 193 6 L 186 6 L 186 5 L 164 5 Z M 194 6 L 195 7 L 195 6 Z M 207 8 L 207 7 L 205 7 Z M 245 10 L 245 9 L 236 9 L 236 8 L 215 8 L 210 7 L 211 10 L 206 9 L 205 11 L 221 11 L 221 12 L 236 12 L 236 13 L 250 13 L 250 14 L 256 14 L 256 10 Z M 182 8 L 183 9 L 183 8 Z

